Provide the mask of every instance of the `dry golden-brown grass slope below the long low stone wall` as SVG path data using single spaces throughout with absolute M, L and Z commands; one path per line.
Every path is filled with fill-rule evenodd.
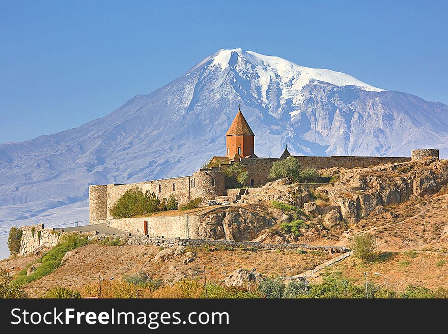
M 245 251 L 215 250 L 205 247 L 188 249 L 197 254 L 197 259 L 183 264 L 183 257 L 169 262 L 154 263 L 159 249 L 155 246 L 99 246 L 91 244 L 76 250 L 66 264 L 52 274 L 26 286 L 26 291 L 39 297 L 54 286 L 82 290 L 87 284 L 98 284 L 98 275 L 106 281 L 114 277 L 120 280 L 124 275 L 145 271 L 154 280 L 162 279 L 166 284 L 179 279 L 201 278 L 206 266 L 210 281 L 223 284 L 235 269 L 257 268 L 268 276 L 291 276 L 313 268 L 335 254 L 308 251 Z M 124 288 L 123 288 L 124 289 Z M 130 293 L 133 293 L 131 291 Z

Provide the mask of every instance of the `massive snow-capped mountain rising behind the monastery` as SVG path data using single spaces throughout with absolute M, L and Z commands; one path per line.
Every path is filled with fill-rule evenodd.
M 79 128 L 0 144 L 1 256 L 11 225 L 88 217 L 90 184 L 187 175 L 225 154 L 241 110 L 255 153 L 448 156 L 448 106 L 340 72 L 241 49 L 219 50 L 149 95 Z M 49 224 L 48 224 L 49 223 Z

